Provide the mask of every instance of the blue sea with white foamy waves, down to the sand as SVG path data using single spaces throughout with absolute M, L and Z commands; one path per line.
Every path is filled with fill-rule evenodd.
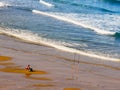
M 119 0 L 1 0 L 0 33 L 72 53 L 120 58 Z

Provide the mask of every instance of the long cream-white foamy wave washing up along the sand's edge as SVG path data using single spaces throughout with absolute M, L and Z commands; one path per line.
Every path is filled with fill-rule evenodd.
M 81 54 L 81 55 L 99 58 L 99 59 L 108 60 L 108 61 L 109 60 L 116 61 L 116 62 L 120 61 L 119 59 L 105 57 L 105 56 L 93 54 L 91 52 L 88 53 L 88 52 L 80 51 L 80 50 L 77 50 L 74 48 L 66 47 L 63 44 L 61 44 L 61 42 L 59 43 L 59 42 L 56 42 L 56 41 L 53 41 L 50 39 L 42 38 L 38 34 L 35 34 L 33 32 L 30 32 L 30 31 L 26 31 L 26 30 L 18 30 L 18 29 L 10 29 L 10 28 L 0 27 L 0 34 L 5 34 L 8 36 L 19 38 L 25 42 L 29 42 L 29 43 L 33 43 L 33 44 L 48 45 L 48 46 L 54 47 L 56 49 L 60 49 L 60 50 L 70 52 L 70 53 Z M 64 43 L 64 44 L 66 44 L 66 43 Z M 67 45 L 69 45 L 69 44 L 67 44 Z

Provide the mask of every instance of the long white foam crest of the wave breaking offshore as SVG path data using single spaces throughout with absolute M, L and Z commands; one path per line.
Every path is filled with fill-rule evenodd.
M 101 30 L 101 29 L 99 29 L 99 28 L 95 28 L 95 27 L 92 27 L 92 26 L 90 26 L 90 25 L 83 24 L 83 23 L 81 23 L 81 22 L 72 20 L 72 19 L 70 19 L 70 18 L 66 18 L 66 17 L 54 15 L 54 14 L 49 14 L 49 13 L 47 13 L 47 12 L 43 12 L 43 11 L 39 11 L 39 10 L 32 10 L 32 12 L 33 12 L 33 13 L 37 13 L 37 14 L 46 15 L 46 16 L 49 16 L 49 17 L 52 17 L 52 18 L 56 18 L 56 19 L 58 19 L 58 20 L 66 21 L 66 22 L 69 22 L 69 23 L 72 23 L 72 24 L 75 24 L 75 25 L 82 26 L 82 27 L 84 27 L 84 28 L 89 28 L 89 29 L 94 30 L 95 32 L 97 32 L 97 33 L 99 33 L 99 34 L 105 34 L 105 35 L 114 35 L 114 34 L 115 34 L 115 32 L 106 31 L 106 30 Z

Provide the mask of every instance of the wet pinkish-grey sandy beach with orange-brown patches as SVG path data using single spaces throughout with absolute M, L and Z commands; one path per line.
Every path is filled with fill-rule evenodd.
M 0 90 L 120 90 L 120 63 L 0 35 Z

